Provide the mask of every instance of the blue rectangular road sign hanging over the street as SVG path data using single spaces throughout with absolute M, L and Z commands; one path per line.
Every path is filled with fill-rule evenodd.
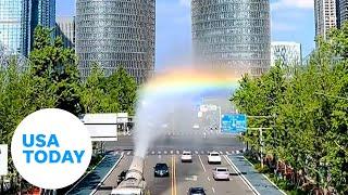
M 247 116 L 239 114 L 226 114 L 221 116 L 222 133 L 240 133 L 247 131 Z

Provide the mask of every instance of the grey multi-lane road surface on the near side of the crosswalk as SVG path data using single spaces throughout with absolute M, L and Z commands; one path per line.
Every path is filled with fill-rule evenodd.
M 229 162 L 222 156 L 222 165 L 209 165 L 206 155 L 192 155 L 192 162 L 182 162 L 179 155 L 149 155 L 145 161 L 145 179 L 148 192 L 154 195 L 183 195 L 192 186 L 201 186 L 207 194 L 253 194 L 252 190 L 236 173 Z M 96 194 L 110 194 L 116 186 L 117 176 L 127 170 L 132 156 L 124 156 L 119 166 L 111 172 Z M 170 167 L 170 177 L 154 178 L 153 167 L 165 162 Z M 232 173 L 229 181 L 215 181 L 212 169 L 216 166 L 227 167 Z

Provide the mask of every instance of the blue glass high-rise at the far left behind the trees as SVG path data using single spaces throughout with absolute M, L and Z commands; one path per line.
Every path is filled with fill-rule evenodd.
M 0 0 L 0 44 L 27 56 L 34 29 L 54 27 L 55 0 Z

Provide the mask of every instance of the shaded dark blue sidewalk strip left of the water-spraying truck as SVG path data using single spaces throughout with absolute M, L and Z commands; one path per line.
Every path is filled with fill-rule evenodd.
M 108 154 L 103 160 L 77 183 L 67 194 L 89 195 L 116 164 L 121 155 Z

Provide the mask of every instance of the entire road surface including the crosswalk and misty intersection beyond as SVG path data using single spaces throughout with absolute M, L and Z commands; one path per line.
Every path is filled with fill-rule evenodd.
M 115 144 L 115 145 L 113 145 Z M 116 185 L 117 176 L 127 170 L 133 158 L 133 140 L 130 136 L 121 138 L 117 143 L 107 145 L 107 148 L 124 154 L 119 166 L 107 178 L 103 185 L 96 192 L 97 195 L 110 194 Z M 192 162 L 182 162 L 183 150 L 192 152 Z M 212 169 L 216 165 L 209 165 L 207 154 L 210 151 L 219 151 L 222 154 L 222 165 L 227 167 L 231 173 L 235 173 L 232 166 L 225 159 L 225 154 L 243 150 L 243 144 L 231 135 L 215 134 L 207 139 L 202 136 L 165 135 L 152 145 L 145 160 L 145 179 L 151 195 L 184 195 L 191 186 L 202 186 L 207 194 L 253 194 L 240 176 L 231 176 L 229 181 L 214 181 Z M 169 178 L 154 178 L 153 167 L 157 162 L 165 162 L 170 166 Z

